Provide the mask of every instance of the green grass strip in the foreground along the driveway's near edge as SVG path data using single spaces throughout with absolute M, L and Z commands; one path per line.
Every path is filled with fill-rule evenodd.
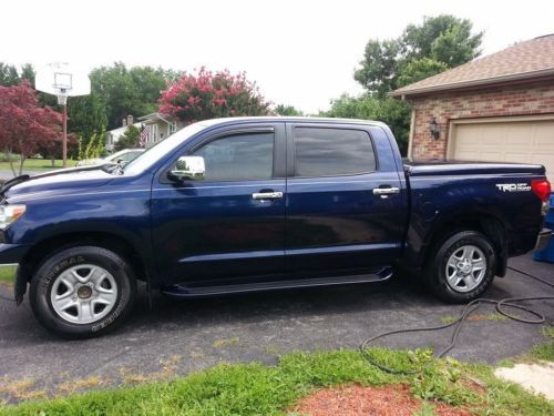
M 286 415 L 315 389 L 352 383 L 406 383 L 414 396 L 428 400 L 425 409 L 444 402 L 483 415 L 554 413 L 553 404 L 496 379 L 486 365 L 434 359 L 429 351 L 373 348 L 371 354 L 394 367 L 422 371 L 416 376 L 390 375 L 355 351 L 293 353 L 281 356 L 277 366 L 219 364 L 172 381 L 4 406 L 0 415 Z

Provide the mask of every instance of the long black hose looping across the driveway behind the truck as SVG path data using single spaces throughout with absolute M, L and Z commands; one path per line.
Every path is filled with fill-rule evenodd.
M 532 277 L 541 283 L 544 283 L 545 285 L 548 285 L 551 287 L 554 287 L 554 284 L 544 281 L 540 277 L 533 276 L 529 273 L 525 273 L 523 271 L 520 271 L 514 267 L 509 267 L 510 270 L 521 273 L 527 277 Z M 535 296 L 535 297 L 511 297 L 511 298 L 504 298 L 500 301 L 494 301 L 494 300 L 489 300 L 489 298 L 476 298 L 466 304 L 462 312 L 460 313 L 460 316 L 454 321 L 449 324 L 444 325 L 438 325 L 438 326 L 421 326 L 421 327 L 416 327 L 416 328 L 404 328 L 404 329 L 396 329 L 396 331 L 388 331 L 384 333 L 381 333 L 379 335 L 372 336 L 370 338 L 367 338 L 360 344 L 360 353 L 361 355 L 372 365 L 376 367 L 382 369 L 386 373 L 391 373 L 391 374 L 403 374 L 403 375 L 409 375 L 409 374 L 417 374 L 420 373 L 420 369 L 398 369 L 398 368 L 390 368 L 384 366 L 383 364 L 377 362 L 371 354 L 368 351 L 368 347 L 371 343 L 373 343 L 377 339 L 384 338 L 390 335 L 394 334 L 407 334 L 407 333 L 414 333 L 414 332 L 427 332 L 427 331 L 440 331 L 440 329 L 445 329 L 451 326 L 455 326 L 454 332 L 452 334 L 452 337 L 450 338 L 450 344 L 441 351 L 437 357 L 441 358 L 444 355 L 447 355 L 452 348 L 454 348 L 455 343 L 458 341 L 458 335 L 460 334 L 460 331 L 462 329 L 463 324 L 465 323 L 466 318 L 475 312 L 482 304 L 493 304 L 495 306 L 495 310 L 499 314 L 513 319 L 517 322 L 522 322 L 525 324 L 542 324 L 546 322 L 546 318 L 544 315 L 540 314 L 536 311 L 531 310 L 530 307 L 523 306 L 523 305 L 517 305 L 517 302 L 526 302 L 526 301 L 554 301 L 554 296 Z M 514 308 L 514 310 L 520 310 L 523 312 L 526 312 L 531 315 L 536 316 L 536 319 L 525 319 L 516 315 L 512 315 L 505 311 L 505 308 Z

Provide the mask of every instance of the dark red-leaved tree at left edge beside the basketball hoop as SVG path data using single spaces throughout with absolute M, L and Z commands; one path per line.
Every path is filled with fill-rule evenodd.
M 0 87 L 0 149 L 6 153 L 13 174 L 14 154 L 19 154 L 19 174 L 24 161 L 39 149 L 61 141 L 62 116 L 49 106 L 39 106 L 37 91 L 28 81 Z

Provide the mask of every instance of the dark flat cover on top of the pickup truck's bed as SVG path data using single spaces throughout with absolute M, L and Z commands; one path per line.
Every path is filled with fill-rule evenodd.
M 544 175 L 545 169 L 531 163 L 471 162 L 471 161 L 404 161 L 410 176 L 474 175 L 474 174 L 531 174 Z

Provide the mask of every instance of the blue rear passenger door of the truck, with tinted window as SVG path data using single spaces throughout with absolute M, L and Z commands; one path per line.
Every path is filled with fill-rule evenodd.
M 398 258 L 407 193 L 382 129 L 289 123 L 287 158 L 290 272 L 356 272 Z

